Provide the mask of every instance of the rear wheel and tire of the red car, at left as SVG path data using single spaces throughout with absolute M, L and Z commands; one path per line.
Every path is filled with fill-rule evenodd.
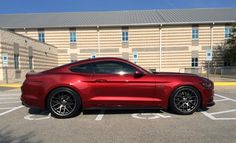
M 53 117 L 74 117 L 81 111 L 80 96 L 69 88 L 57 88 L 49 94 L 47 108 Z

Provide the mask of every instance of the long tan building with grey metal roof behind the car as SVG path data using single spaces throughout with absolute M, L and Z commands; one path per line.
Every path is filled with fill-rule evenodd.
M 122 57 L 156 71 L 223 66 L 217 47 L 228 38 L 236 9 L 144 10 L 0 15 L 0 26 L 58 48 L 58 65 Z M 215 56 L 217 55 L 217 56 Z

